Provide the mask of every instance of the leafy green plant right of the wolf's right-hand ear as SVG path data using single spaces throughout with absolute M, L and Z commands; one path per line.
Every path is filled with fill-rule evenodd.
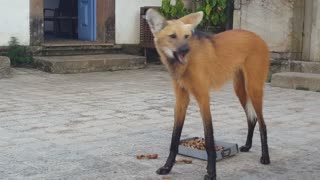
M 194 0 L 196 11 L 203 11 L 201 29 L 224 26 L 227 21 L 228 0 Z

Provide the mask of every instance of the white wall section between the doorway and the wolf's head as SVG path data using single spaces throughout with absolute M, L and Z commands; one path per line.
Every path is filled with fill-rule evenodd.
M 162 0 L 116 0 L 116 43 L 139 44 L 140 7 L 161 6 Z

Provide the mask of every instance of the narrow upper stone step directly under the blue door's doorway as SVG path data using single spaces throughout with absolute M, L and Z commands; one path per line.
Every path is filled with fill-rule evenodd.
M 70 55 L 94 55 L 94 54 L 118 54 L 122 50 L 119 45 L 111 44 L 74 44 L 74 45 L 43 45 L 34 50 L 36 56 L 70 56 Z

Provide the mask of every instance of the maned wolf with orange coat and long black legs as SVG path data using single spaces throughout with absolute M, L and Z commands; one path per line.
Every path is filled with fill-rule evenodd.
M 216 179 L 210 89 L 219 89 L 230 79 L 234 80 L 235 93 L 248 122 L 247 141 L 240 151 L 250 150 L 258 121 L 262 145 L 260 162 L 270 163 L 267 128 L 262 115 L 269 49 L 259 36 L 244 30 L 230 30 L 214 36 L 197 33 L 195 28 L 202 18 L 203 12 L 169 21 L 153 9 L 146 14 L 161 61 L 171 74 L 176 96 L 170 155 L 157 171 L 161 175 L 168 174 L 175 163 L 186 110 L 193 95 L 200 107 L 208 154 L 208 174 L 204 179 Z

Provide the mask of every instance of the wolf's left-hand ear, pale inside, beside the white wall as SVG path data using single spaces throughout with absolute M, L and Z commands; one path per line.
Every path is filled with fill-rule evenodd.
M 153 34 L 161 31 L 167 25 L 166 19 L 154 9 L 149 9 L 147 11 L 146 20 Z

